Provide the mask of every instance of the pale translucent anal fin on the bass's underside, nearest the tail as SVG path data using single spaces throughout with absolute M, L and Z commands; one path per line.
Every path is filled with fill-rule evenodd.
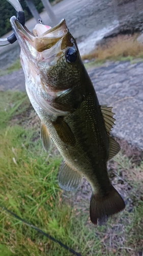
M 67 191 L 78 189 L 82 184 L 82 175 L 63 163 L 58 176 L 59 186 Z

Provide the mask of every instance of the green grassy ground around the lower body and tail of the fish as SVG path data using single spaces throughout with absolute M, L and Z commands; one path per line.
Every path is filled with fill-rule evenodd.
M 112 184 L 124 194 L 127 206 L 105 226 L 94 226 L 82 188 L 77 193 L 60 189 L 62 158 L 54 145 L 49 153 L 43 150 L 40 122 L 27 96 L 2 92 L 0 104 L 0 204 L 82 256 L 137 255 L 143 238 L 143 162 L 137 165 L 123 152 L 109 162 Z M 85 195 L 84 184 L 83 191 Z M 1 255 L 73 255 L 3 208 L 0 215 Z

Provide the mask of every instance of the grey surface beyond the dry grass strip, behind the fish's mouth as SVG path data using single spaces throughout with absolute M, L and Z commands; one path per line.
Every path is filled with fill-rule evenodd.
M 142 0 L 63 0 L 52 9 L 58 22 L 62 18 L 66 19 L 67 26 L 78 44 L 84 40 L 81 47 L 79 45 L 81 54 L 93 50 L 92 47 L 96 41 L 102 39 L 106 33 L 111 35 L 124 30 L 141 31 L 143 29 Z M 46 12 L 41 13 L 40 16 L 44 24 L 52 26 Z M 36 20 L 34 18 L 28 20 L 25 25 L 32 31 Z M 4 38 L 8 35 L 10 33 Z M 16 60 L 19 51 L 17 42 L 10 46 L 0 47 L 0 69 Z

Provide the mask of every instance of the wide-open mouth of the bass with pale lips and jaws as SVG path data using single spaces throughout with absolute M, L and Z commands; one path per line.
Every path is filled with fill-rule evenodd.
M 10 22 L 21 49 L 30 50 L 33 55 L 35 55 L 36 51 L 43 52 L 50 49 L 68 33 L 65 19 L 62 19 L 53 28 L 37 24 L 33 34 L 25 26 L 22 26 L 15 16 L 11 17 Z M 40 31 L 38 26 L 43 26 L 43 30 Z

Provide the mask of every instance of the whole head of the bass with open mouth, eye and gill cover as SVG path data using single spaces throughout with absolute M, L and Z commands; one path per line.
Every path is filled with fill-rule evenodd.
M 11 17 L 10 22 L 21 48 L 26 91 L 36 112 L 38 108 L 56 115 L 71 112 L 81 101 L 81 93 L 77 93 L 74 88 L 80 87 L 81 70 L 84 68 L 65 19 L 53 28 L 37 24 L 33 33 L 23 27 L 15 16 Z M 67 97 L 64 107 L 60 96 L 69 94 L 73 89 L 71 106 L 68 107 Z M 60 103 L 57 103 L 57 98 Z

